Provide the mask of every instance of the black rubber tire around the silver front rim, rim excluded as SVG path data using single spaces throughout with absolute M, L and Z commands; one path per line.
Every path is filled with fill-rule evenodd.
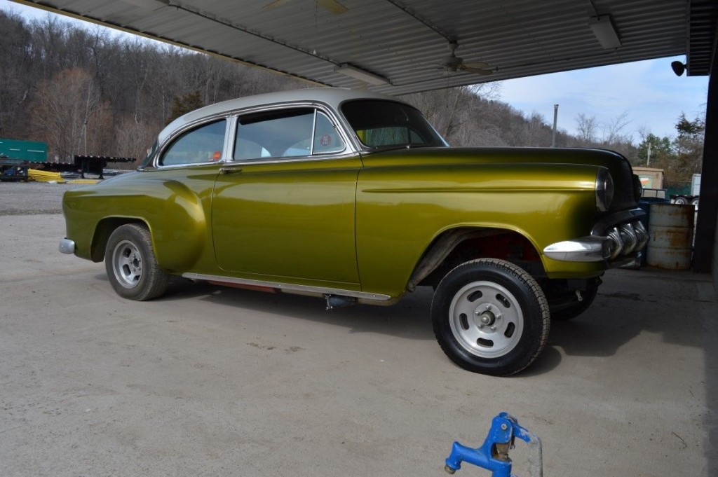
M 507 266 L 507 264 L 509 266 Z M 437 341 L 452 361 L 472 372 L 505 376 L 521 371 L 533 362 L 543 349 L 548 334 L 548 306 L 538 283 L 529 275 L 503 260 L 475 260 L 454 268 L 439 283 L 432 302 L 432 323 Z M 522 271 L 522 270 L 521 270 Z M 526 280 L 533 281 L 533 283 Z M 513 294 L 523 314 L 523 331 L 516 346 L 503 356 L 482 358 L 470 353 L 454 336 L 449 308 L 456 293 L 468 283 L 489 281 Z M 538 291 L 538 292 L 537 292 Z M 538 296 L 537 296 L 538 293 Z

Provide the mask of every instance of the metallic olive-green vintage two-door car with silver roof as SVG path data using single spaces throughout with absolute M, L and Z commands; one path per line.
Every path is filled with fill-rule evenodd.
M 105 260 L 124 298 L 170 276 L 389 305 L 434 287 L 460 367 L 531 364 L 550 318 L 595 298 L 648 241 L 640 182 L 595 149 L 449 148 L 395 98 L 305 89 L 210 105 L 159 133 L 137 171 L 65 193 L 60 251 Z

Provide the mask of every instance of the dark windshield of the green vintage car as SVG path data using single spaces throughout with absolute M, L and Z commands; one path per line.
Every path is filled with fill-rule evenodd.
M 370 148 L 447 146 L 419 110 L 387 100 L 352 100 L 342 104 L 359 140 Z

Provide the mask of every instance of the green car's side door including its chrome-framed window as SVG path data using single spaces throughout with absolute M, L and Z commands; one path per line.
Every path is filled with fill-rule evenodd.
M 218 266 L 243 278 L 358 290 L 360 159 L 314 107 L 239 115 L 213 191 Z

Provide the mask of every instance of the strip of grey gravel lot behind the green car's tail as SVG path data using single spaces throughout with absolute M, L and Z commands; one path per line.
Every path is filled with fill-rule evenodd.
M 87 185 L 0 182 L 0 215 L 62 214 L 62 194 Z

